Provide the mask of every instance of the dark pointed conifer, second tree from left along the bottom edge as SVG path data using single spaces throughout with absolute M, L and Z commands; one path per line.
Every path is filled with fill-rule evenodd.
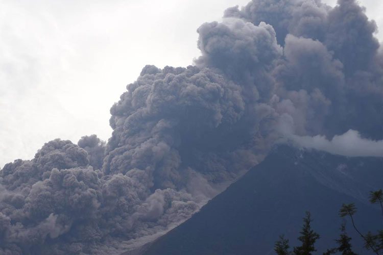
M 313 251 L 316 251 L 315 249 L 315 242 L 319 239 L 319 234 L 316 233 L 311 228 L 311 222 L 313 220 L 311 219 L 310 212 L 306 212 L 306 217 L 303 218 L 303 226 L 300 237 L 298 237 L 298 240 L 302 242 L 301 246 L 294 247 L 294 254 L 296 255 L 312 255 Z

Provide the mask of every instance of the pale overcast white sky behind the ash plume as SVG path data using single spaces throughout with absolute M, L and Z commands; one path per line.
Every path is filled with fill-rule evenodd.
M 109 109 L 143 66 L 192 64 L 199 25 L 247 2 L 0 0 L 0 168 L 55 138 L 107 140 Z M 383 30 L 383 1 L 360 2 Z

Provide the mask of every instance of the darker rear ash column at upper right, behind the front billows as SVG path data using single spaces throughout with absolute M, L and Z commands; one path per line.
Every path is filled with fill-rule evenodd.
M 273 26 L 283 46 L 272 72 L 276 109 L 289 115 L 293 132 L 332 137 L 353 129 L 383 137 L 383 49 L 375 22 L 354 0 L 334 8 L 319 0 L 256 0 L 225 17 Z

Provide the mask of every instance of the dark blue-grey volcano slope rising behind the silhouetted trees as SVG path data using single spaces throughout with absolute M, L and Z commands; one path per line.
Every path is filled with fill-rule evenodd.
M 274 254 L 274 242 L 284 234 L 291 245 L 306 210 L 321 235 L 318 253 L 335 246 L 342 203 L 355 202 L 356 224 L 363 232 L 381 227 L 378 207 L 368 192 L 383 186 L 383 159 L 343 157 L 315 150 L 276 146 L 270 155 L 200 212 L 154 241 L 142 254 Z M 355 251 L 360 237 L 347 222 Z

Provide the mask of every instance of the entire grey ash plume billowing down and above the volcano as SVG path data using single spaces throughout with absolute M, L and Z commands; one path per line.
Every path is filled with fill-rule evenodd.
M 144 67 L 106 144 L 58 139 L 3 168 L 0 254 L 116 253 L 190 217 L 281 137 L 382 139 L 375 31 L 354 0 L 253 0 L 202 24 L 195 65 Z

